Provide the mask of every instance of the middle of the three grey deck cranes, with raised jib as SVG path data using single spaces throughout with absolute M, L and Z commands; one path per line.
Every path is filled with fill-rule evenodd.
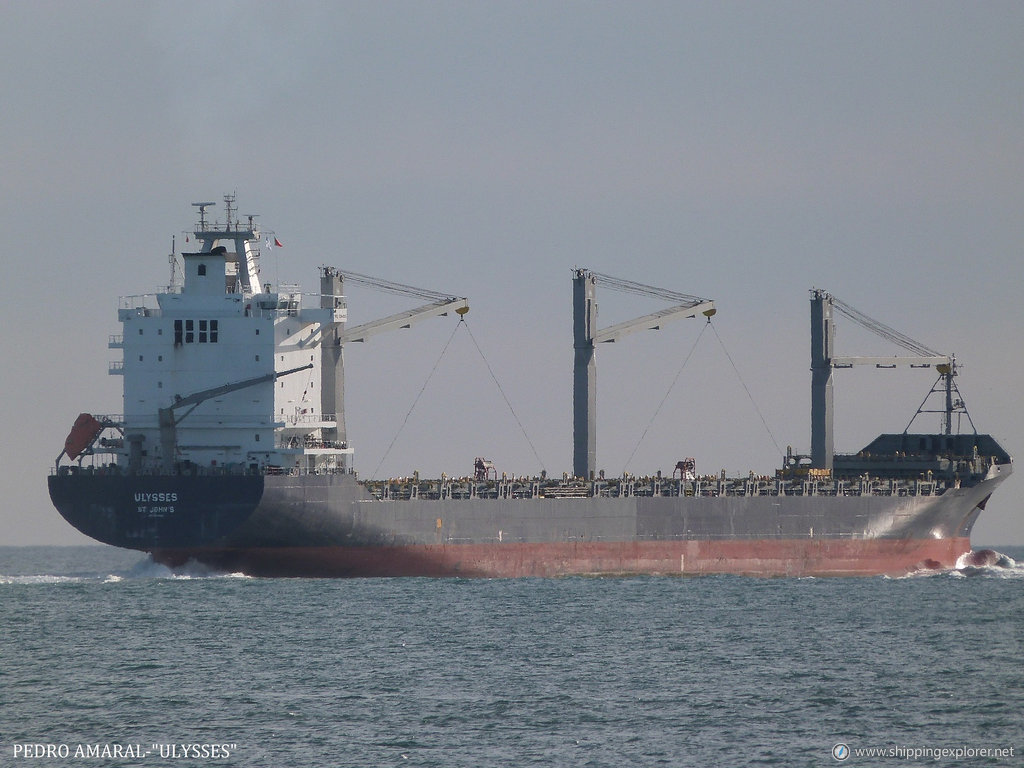
M 642 317 L 598 330 L 596 289 L 601 285 L 614 291 L 650 296 L 674 302 Z M 613 343 L 637 331 L 656 331 L 666 323 L 702 314 L 709 319 L 715 302 L 664 288 L 612 278 L 577 267 L 572 278 L 572 339 L 575 362 L 572 368 L 572 473 L 591 479 L 597 465 L 597 365 L 594 345 Z

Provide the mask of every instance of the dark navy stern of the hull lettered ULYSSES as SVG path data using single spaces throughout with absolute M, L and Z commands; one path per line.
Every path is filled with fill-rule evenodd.
M 50 475 L 60 515 L 103 544 L 152 552 L 223 544 L 263 497 L 259 475 Z

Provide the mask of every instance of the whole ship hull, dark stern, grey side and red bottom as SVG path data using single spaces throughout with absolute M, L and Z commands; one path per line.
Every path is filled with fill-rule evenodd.
M 70 474 L 50 495 L 98 541 L 253 575 L 899 575 L 970 552 L 1007 474 L 918 497 L 381 501 L 351 475 Z

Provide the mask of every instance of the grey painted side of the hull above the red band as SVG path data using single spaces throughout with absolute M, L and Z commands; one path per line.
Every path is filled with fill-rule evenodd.
M 266 478 L 223 546 L 392 547 L 553 542 L 969 538 L 996 476 L 942 496 L 379 501 L 349 475 Z

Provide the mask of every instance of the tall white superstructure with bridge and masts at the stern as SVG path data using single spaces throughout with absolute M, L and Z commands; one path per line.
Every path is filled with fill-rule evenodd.
M 182 253 L 183 281 L 122 299 L 124 440 L 134 470 L 344 471 L 342 281 L 324 268 L 321 294 L 261 282 L 260 232 L 248 217 L 200 221 Z M 176 258 L 172 254 L 172 260 Z

